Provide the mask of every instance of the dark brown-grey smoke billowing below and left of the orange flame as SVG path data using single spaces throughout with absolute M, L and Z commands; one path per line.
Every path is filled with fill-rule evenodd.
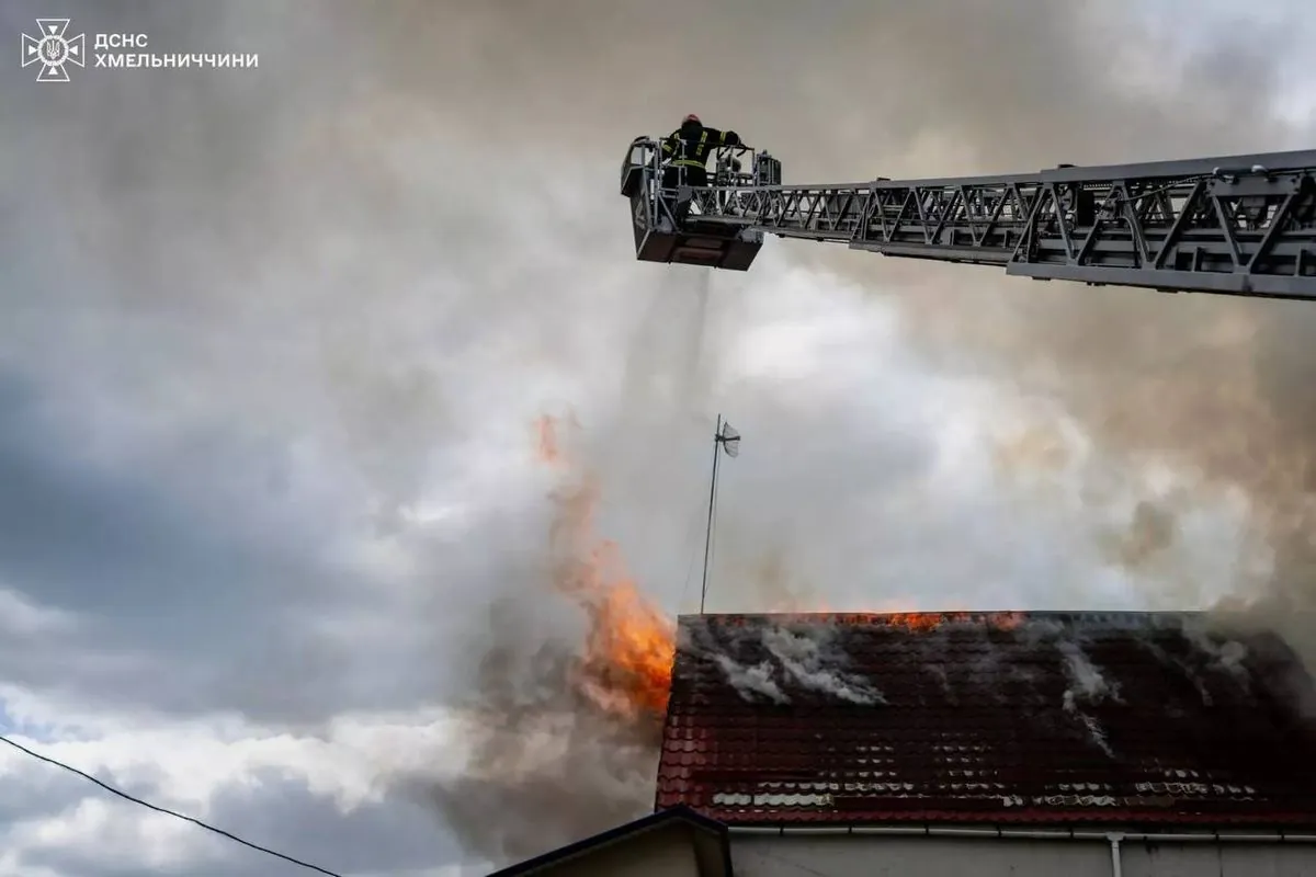
M 583 688 L 580 643 L 545 639 L 550 597 L 529 596 L 488 618 L 497 644 L 474 681 L 463 773 L 422 792 L 467 853 L 501 864 L 644 815 L 658 767 L 661 718 L 612 711 Z

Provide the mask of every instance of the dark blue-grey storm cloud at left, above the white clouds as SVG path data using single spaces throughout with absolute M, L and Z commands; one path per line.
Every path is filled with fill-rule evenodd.
M 278 519 L 278 480 L 259 477 L 284 462 L 278 450 L 216 427 L 111 469 L 62 429 L 63 401 L 0 375 L 0 581 L 75 625 L 7 642 L 5 678 L 118 706 L 284 718 L 396 694 L 396 682 L 355 685 L 351 661 L 303 623 L 359 611 L 366 596 L 316 550 L 337 535 L 332 519 Z

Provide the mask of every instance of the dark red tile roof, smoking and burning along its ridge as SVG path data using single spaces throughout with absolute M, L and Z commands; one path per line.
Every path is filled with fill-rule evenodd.
M 1274 636 L 1179 613 L 687 615 L 678 643 L 658 807 L 1316 827 L 1312 682 Z

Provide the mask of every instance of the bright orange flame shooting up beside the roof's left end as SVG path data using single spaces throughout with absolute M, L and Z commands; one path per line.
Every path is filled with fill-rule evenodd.
M 566 462 L 558 422 L 536 422 L 542 463 Z M 595 530 L 599 486 L 586 476 L 554 494 L 554 584 L 588 619 L 584 655 L 574 668 L 578 693 L 625 719 L 661 718 L 667 710 L 676 634 L 672 622 L 641 592 L 616 542 Z

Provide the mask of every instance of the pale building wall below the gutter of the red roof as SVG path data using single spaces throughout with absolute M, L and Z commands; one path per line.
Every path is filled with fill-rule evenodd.
M 733 834 L 736 877 L 1112 877 L 1107 840 Z M 1120 845 L 1120 877 L 1316 877 L 1316 844 Z

